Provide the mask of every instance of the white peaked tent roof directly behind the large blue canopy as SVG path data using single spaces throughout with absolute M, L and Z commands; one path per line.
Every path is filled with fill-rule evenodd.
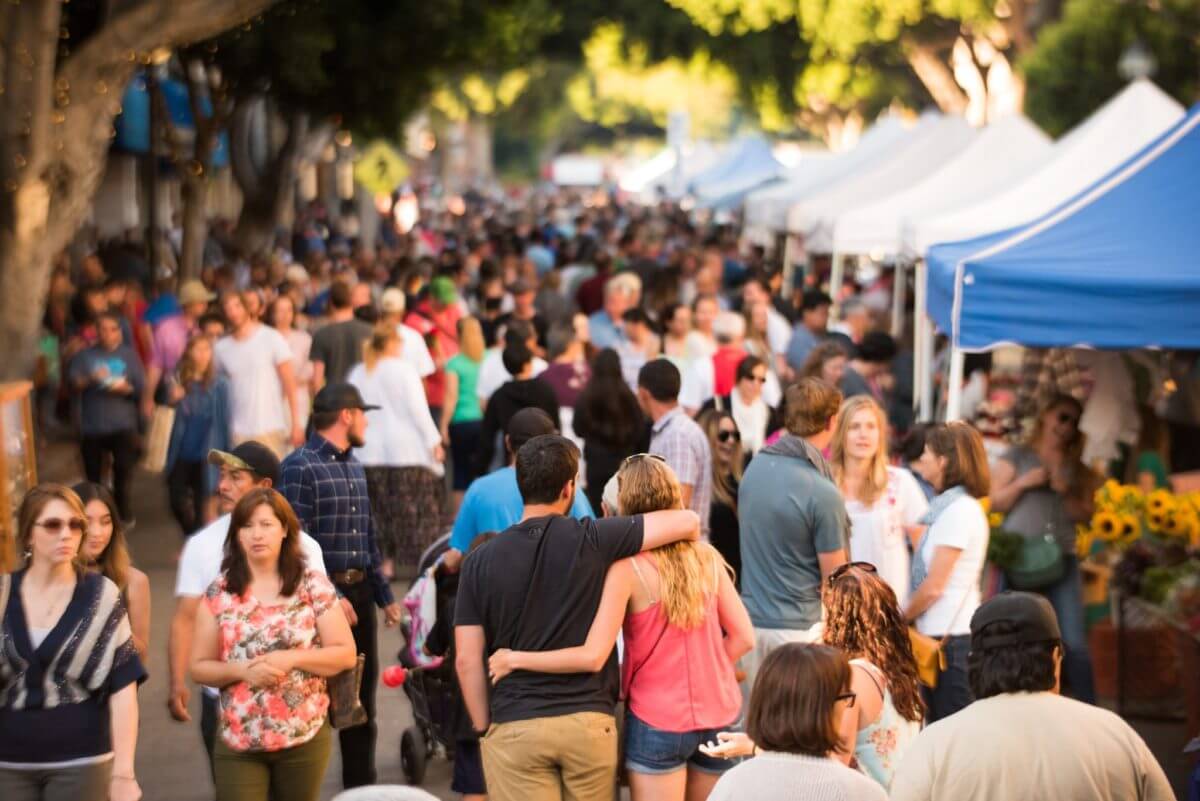
M 1058 140 L 1052 158 L 1014 186 L 966 209 L 913 224 L 916 252 L 1013 228 L 1051 211 L 1183 116 L 1148 80 L 1135 80 Z

